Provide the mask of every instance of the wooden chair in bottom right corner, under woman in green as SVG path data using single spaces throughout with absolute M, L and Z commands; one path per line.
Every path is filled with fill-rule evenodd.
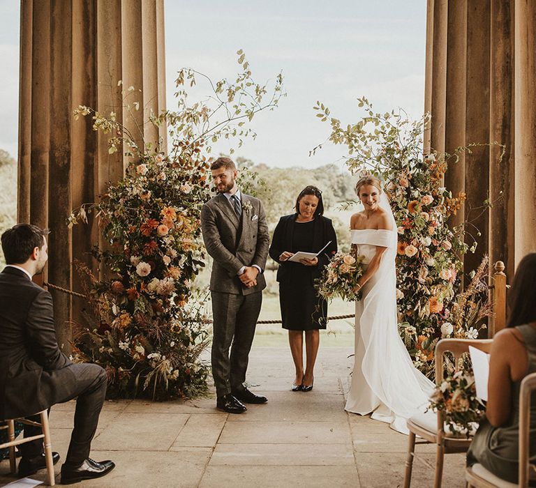
M 536 465 L 530 464 L 530 396 L 536 392 L 536 373 L 528 374 L 521 381 L 519 391 L 519 475 L 518 484 L 514 484 L 490 473 L 482 464 L 475 464 L 466 469 L 468 487 L 475 488 L 526 488 L 530 478 L 530 471 L 536 477 Z

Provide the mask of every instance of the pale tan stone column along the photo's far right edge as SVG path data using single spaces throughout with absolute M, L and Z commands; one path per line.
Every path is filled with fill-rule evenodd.
M 515 1 L 515 264 L 536 251 L 536 4 Z

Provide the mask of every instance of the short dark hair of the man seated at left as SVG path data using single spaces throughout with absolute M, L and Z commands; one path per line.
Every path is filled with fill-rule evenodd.
M 48 234 L 48 229 L 31 224 L 17 224 L 6 230 L 1 236 L 6 264 L 22 264 L 28 261 L 36 247 L 43 247 L 43 237 Z

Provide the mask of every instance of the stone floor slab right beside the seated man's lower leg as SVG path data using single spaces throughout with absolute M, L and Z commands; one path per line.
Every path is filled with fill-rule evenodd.
M 189 415 L 184 413 L 121 413 L 110 427 L 95 437 L 91 450 L 167 451 Z

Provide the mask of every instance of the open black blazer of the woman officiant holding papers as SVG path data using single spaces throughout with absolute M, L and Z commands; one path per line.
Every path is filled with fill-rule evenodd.
M 277 281 L 280 283 L 288 283 L 290 274 L 292 273 L 286 261 L 279 261 L 279 256 L 283 251 L 292 250 L 292 237 L 294 235 L 296 215 L 292 213 L 292 215 L 281 217 L 274 230 L 274 236 L 271 238 L 269 255 L 271 259 L 274 259 L 279 264 Z M 337 252 L 337 236 L 332 221 L 329 218 L 318 215 L 315 217 L 313 230 L 313 252 L 320 251 L 329 241 L 332 241 L 332 243 L 318 256 L 318 265 L 307 267 L 307 270 L 311 273 L 311 284 L 314 284 L 314 280 L 320 277 L 324 266 L 329 262 L 333 254 Z

